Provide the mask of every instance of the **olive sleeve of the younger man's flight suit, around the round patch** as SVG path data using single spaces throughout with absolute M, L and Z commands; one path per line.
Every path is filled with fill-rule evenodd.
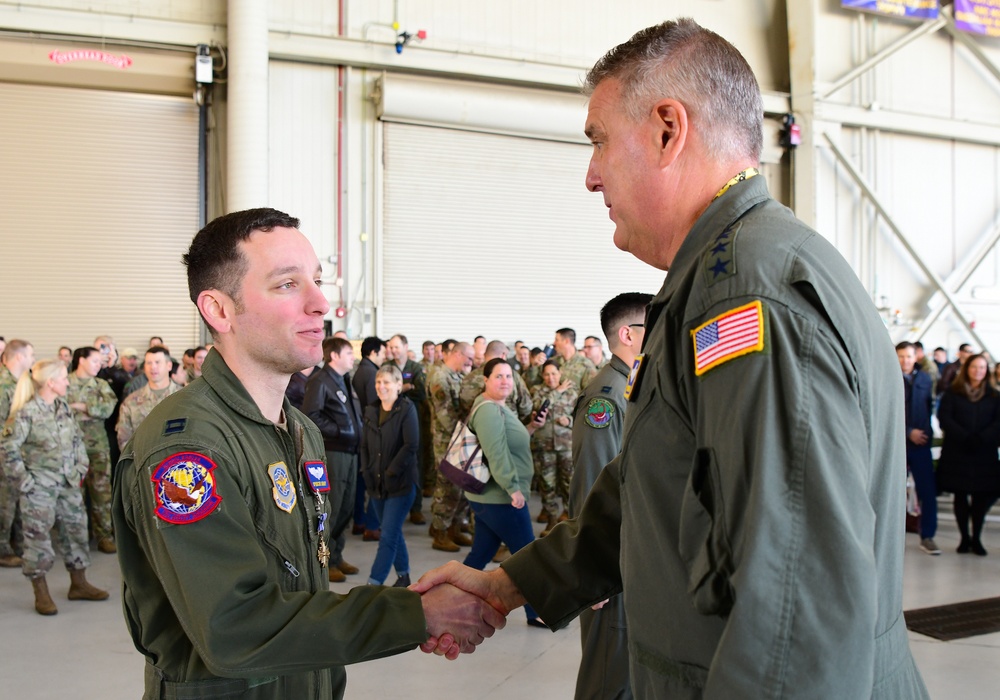
M 184 450 L 215 462 L 222 501 L 207 517 L 171 524 L 155 515 L 150 478 L 158 460 Z M 302 543 L 268 531 L 267 518 L 295 513 L 253 512 L 246 485 L 253 475 L 234 464 L 230 449 L 174 443 L 154 455 L 136 464 L 126 454 L 114 485 L 116 529 L 129 528 L 141 545 L 120 552 L 123 567 L 137 574 L 123 590 L 134 637 L 162 640 L 176 618 L 211 673 L 236 678 L 342 666 L 412 649 L 427 638 L 415 593 L 378 586 L 359 586 L 347 595 L 326 590 L 326 569 L 295 557 Z M 273 503 L 266 507 L 276 509 Z M 318 574 L 324 580 L 312 580 Z M 150 586 L 148 595 L 143 586 Z M 169 609 L 150 610 L 148 601 L 159 597 L 160 587 Z M 140 620 L 146 629 L 137 629 Z

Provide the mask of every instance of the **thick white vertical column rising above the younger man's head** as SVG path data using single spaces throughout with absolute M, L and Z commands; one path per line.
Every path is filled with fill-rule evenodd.
M 268 204 L 267 0 L 229 0 L 226 211 Z

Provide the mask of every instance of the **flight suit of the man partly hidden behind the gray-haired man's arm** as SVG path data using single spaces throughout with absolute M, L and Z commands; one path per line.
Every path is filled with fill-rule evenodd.
M 629 369 L 620 357 L 612 355 L 576 402 L 571 517 L 580 512 L 604 465 L 621 450 Z M 600 610 L 587 608 L 580 613 L 580 646 L 575 700 L 631 700 L 628 624 L 621 595 L 612 596 Z

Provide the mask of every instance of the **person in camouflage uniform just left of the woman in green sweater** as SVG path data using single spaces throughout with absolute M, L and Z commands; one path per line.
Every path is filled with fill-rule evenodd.
M 434 463 L 438 464 L 448 452 L 451 434 L 462 417 L 459 396 L 462 375 L 472 369 L 474 351 L 469 343 L 456 343 L 444 353 L 442 364 L 432 370 L 427 382 L 431 411 L 434 415 Z M 434 502 L 431 504 L 431 536 L 434 549 L 457 552 L 459 545 L 469 546 L 472 540 L 459 530 L 456 515 L 465 501 L 462 490 L 435 470 Z

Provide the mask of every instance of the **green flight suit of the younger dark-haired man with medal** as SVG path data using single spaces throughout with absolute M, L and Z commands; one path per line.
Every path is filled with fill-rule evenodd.
M 126 446 L 113 514 L 144 698 L 341 698 L 345 664 L 427 637 L 415 593 L 329 590 L 317 523 L 330 502 L 304 477 L 306 462 L 323 460 L 322 435 L 287 399 L 283 410 L 287 431 L 212 350 L 202 378 L 158 404 Z M 170 476 L 185 465 L 200 481 Z

